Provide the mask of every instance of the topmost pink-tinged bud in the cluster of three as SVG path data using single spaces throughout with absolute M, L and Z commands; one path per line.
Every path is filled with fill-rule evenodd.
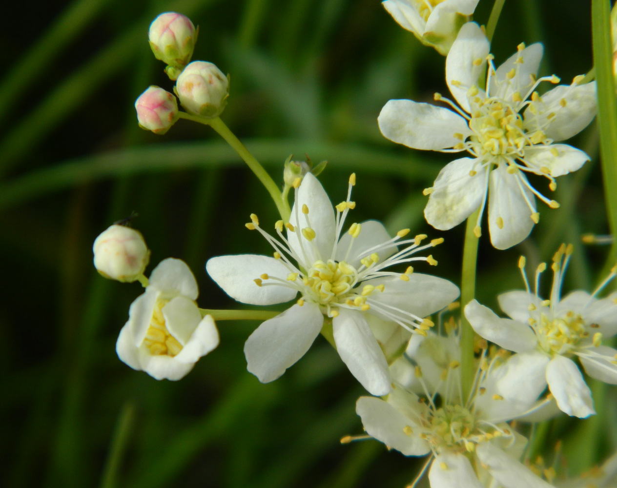
M 160 14 L 150 24 L 148 39 L 156 59 L 168 64 L 167 74 L 175 80 L 193 56 L 197 31 L 188 17 L 175 12 Z M 175 69 L 174 69 L 175 68 Z

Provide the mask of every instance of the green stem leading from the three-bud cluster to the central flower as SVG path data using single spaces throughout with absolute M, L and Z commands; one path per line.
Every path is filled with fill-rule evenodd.
M 284 221 L 289 221 L 289 215 L 291 212 L 288 212 L 286 209 L 286 205 L 284 205 L 283 197 L 281 196 L 281 191 L 278 189 L 278 186 L 268 175 L 268 172 L 263 169 L 263 166 L 260 165 L 259 161 L 255 159 L 255 157 L 249 152 L 248 149 L 242 144 L 239 139 L 234 135 L 233 132 L 225 125 L 225 122 L 221 120 L 220 117 L 217 118 L 203 118 L 199 117 L 199 115 L 191 115 L 186 114 L 186 112 L 180 112 L 180 118 L 186 118 L 186 120 L 193 120 L 193 122 L 199 122 L 204 125 L 209 125 L 218 134 L 225 139 L 226 143 L 228 143 L 234 151 L 238 153 L 238 155 L 244 160 L 251 171 L 255 173 L 257 179 L 262 182 L 263 186 L 267 189 L 268 193 L 270 193 L 270 197 L 274 201 L 276 208 L 278 209 L 278 213 L 281 214 L 281 218 Z M 289 205 L 288 205 L 289 206 Z

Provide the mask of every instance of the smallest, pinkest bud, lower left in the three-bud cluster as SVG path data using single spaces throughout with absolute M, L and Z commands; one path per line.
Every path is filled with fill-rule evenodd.
M 139 126 L 165 134 L 178 120 L 178 102 L 173 93 L 152 85 L 135 101 Z

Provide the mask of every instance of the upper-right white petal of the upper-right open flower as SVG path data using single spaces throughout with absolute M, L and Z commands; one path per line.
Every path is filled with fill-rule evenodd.
M 562 107 L 561 100 L 566 101 Z M 595 81 L 579 86 L 556 86 L 542 95 L 539 114 L 534 115 L 529 108 L 525 110 L 524 127 L 534 131 L 548 123 L 548 115 L 555 114 L 544 133 L 553 141 L 563 141 L 578 134 L 594 119 L 598 106 L 596 102 Z

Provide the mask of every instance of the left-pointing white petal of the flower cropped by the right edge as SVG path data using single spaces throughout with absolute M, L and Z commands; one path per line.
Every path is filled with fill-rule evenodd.
M 537 344 L 536 334 L 525 323 L 499 318 L 488 307 L 471 300 L 465 306 L 465 316 L 474 331 L 488 341 L 513 352 L 526 352 Z

